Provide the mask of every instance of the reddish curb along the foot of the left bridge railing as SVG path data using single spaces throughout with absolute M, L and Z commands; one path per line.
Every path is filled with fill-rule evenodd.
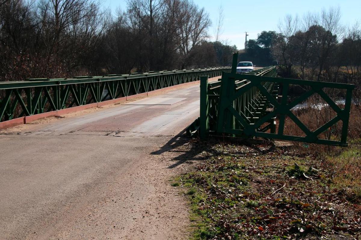
M 153 90 L 150 92 L 143 92 L 140 94 L 135 94 L 135 95 L 126 96 L 126 97 L 122 97 L 122 98 L 106 100 L 106 101 L 102 101 L 100 103 L 90 103 L 90 104 L 86 104 L 86 105 L 82 105 L 82 106 L 65 108 L 65 109 L 51 111 L 51 112 L 47 112 L 47 113 L 39 113 L 39 114 L 31 115 L 31 116 L 15 118 L 15 119 L 11 119 L 8 121 L 0 122 L 0 130 L 9 128 L 9 127 L 19 126 L 19 125 L 26 124 L 26 123 L 29 123 L 29 122 L 32 122 L 35 120 L 43 119 L 43 118 L 57 117 L 57 116 L 61 116 L 61 115 L 67 114 L 67 113 L 78 112 L 78 111 L 82 111 L 82 110 L 89 109 L 89 108 L 100 108 L 102 106 L 109 105 L 109 104 L 121 103 L 121 102 L 130 100 L 130 99 L 154 96 L 157 94 L 161 94 L 162 92 L 168 92 L 171 90 L 180 89 L 182 87 L 199 85 L 199 83 L 200 83 L 200 81 L 186 82 L 186 83 L 182 83 L 182 84 L 178 84 L 178 85 L 174 85 L 174 86 L 170 86 L 170 87 L 165 87 L 163 89 Z

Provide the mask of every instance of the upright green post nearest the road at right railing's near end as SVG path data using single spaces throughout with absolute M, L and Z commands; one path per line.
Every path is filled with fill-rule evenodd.
M 200 76 L 200 126 L 199 137 L 205 139 L 209 131 L 208 122 L 208 78 L 209 76 Z

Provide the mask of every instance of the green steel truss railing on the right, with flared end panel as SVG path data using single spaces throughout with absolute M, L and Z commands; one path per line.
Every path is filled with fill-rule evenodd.
M 276 67 L 236 74 L 237 58 L 238 54 L 234 54 L 231 72 L 223 73 L 220 81 L 208 83 L 208 77 L 201 77 L 200 118 L 188 128 L 188 133 L 199 129 L 201 138 L 211 133 L 347 146 L 348 120 L 354 85 L 279 78 L 275 77 Z M 299 85 L 307 90 L 288 102 L 288 90 L 291 85 Z M 281 100 L 278 99 L 279 88 L 282 89 Z M 345 91 L 343 109 L 326 94 L 325 88 Z M 311 131 L 291 109 L 313 94 L 318 94 L 334 110 L 336 116 Z M 303 131 L 304 136 L 284 134 L 287 116 Z M 339 121 L 342 121 L 339 140 L 319 138 L 321 133 Z

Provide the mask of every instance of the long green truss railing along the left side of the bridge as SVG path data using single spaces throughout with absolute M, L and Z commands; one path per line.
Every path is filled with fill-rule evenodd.
M 183 69 L 74 78 L 0 82 L 0 122 L 221 76 L 231 68 Z

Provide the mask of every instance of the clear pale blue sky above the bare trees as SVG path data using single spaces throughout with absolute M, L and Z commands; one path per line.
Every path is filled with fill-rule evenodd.
M 340 7 L 341 22 L 350 26 L 355 21 L 361 22 L 361 0 L 278 0 L 278 1 L 241 1 L 241 0 L 193 0 L 199 7 L 204 7 L 209 13 L 213 24 L 218 18 L 218 8 L 222 4 L 224 12 L 223 34 L 221 40 L 228 44 L 244 48 L 245 31 L 248 38 L 256 39 L 263 30 L 277 31 L 279 19 L 285 15 L 298 14 L 300 17 L 307 13 L 321 12 L 322 8 Z M 113 12 L 120 7 L 126 10 L 126 0 L 104 0 L 104 6 L 110 7 Z M 213 26 L 209 29 L 210 40 L 213 38 Z

